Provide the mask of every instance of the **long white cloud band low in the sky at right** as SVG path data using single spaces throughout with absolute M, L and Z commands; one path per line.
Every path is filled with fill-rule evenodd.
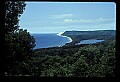
M 64 23 L 98 23 L 98 22 L 108 22 L 112 20 L 113 19 L 105 19 L 101 17 L 98 19 L 80 19 L 80 20 L 64 19 Z

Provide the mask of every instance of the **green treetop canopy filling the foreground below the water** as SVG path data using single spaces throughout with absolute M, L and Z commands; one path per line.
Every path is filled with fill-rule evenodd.
M 40 77 L 114 77 L 115 41 L 35 50 L 33 59 Z

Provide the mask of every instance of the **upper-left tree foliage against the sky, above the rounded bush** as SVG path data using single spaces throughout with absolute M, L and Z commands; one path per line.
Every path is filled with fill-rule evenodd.
M 19 17 L 25 9 L 24 1 L 7 1 L 5 3 L 5 34 L 18 29 Z

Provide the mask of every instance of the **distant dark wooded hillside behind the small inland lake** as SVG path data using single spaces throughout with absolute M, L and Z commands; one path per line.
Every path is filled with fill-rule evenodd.
M 75 45 L 81 40 L 98 39 L 98 40 L 115 40 L 116 30 L 97 30 L 97 31 L 65 31 L 62 35 L 70 37 L 73 41 L 66 45 Z

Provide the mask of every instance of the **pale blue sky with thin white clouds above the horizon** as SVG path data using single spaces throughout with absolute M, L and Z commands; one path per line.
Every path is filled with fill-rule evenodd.
M 114 2 L 26 2 L 20 28 L 30 33 L 116 30 Z

